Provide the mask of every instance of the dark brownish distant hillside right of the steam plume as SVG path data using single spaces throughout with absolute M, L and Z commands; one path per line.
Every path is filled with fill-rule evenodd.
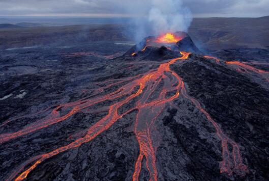
M 269 46 L 269 16 L 194 18 L 188 33 L 204 49 L 264 48 Z

